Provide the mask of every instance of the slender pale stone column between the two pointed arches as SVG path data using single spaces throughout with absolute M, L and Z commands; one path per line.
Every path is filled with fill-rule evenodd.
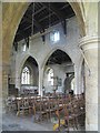
M 42 96 L 43 69 L 39 66 L 39 95 Z

